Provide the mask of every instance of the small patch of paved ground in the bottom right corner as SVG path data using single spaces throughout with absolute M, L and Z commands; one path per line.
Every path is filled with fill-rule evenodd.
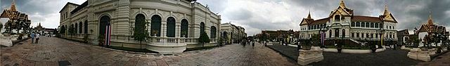
M 439 55 L 430 62 L 419 62 L 418 66 L 450 66 L 450 52 Z

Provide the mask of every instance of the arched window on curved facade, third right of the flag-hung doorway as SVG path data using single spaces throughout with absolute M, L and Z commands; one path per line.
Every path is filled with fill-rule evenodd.
M 175 18 L 167 18 L 167 37 L 175 37 Z

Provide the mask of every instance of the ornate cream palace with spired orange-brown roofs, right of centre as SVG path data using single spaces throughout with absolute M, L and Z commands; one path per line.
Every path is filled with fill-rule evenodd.
M 327 18 L 315 20 L 308 14 L 300 23 L 300 39 L 309 39 L 313 34 L 325 36 L 326 45 L 349 44 L 358 45 L 361 42 L 383 44 L 397 41 L 397 20 L 385 7 L 380 16 L 354 15 L 352 9 L 345 6 L 344 1 L 328 15 Z M 340 43 L 338 43 L 339 40 Z

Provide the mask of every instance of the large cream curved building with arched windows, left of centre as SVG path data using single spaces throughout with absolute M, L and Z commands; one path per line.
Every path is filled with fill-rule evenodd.
M 68 3 L 60 11 L 64 38 L 109 46 L 146 48 L 159 53 L 181 53 L 202 46 L 200 32 L 206 32 L 216 45 L 221 16 L 191 0 L 87 0 Z M 133 38 L 135 29 L 145 29 L 150 37 Z M 104 37 L 104 38 L 103 38 Z

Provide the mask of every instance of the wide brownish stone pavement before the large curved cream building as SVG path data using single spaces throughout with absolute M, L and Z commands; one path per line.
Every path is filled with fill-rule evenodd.
M 39 44 L 30 39 L 12 47 L 2 47 L 1 66 L 293 66 L 288 60 L 270 48 L 256 44 L 231 44 L 203 51 L 189 51 L 175 55 L 143 55 L 111 51 L 56 37 L 41 37 Z

